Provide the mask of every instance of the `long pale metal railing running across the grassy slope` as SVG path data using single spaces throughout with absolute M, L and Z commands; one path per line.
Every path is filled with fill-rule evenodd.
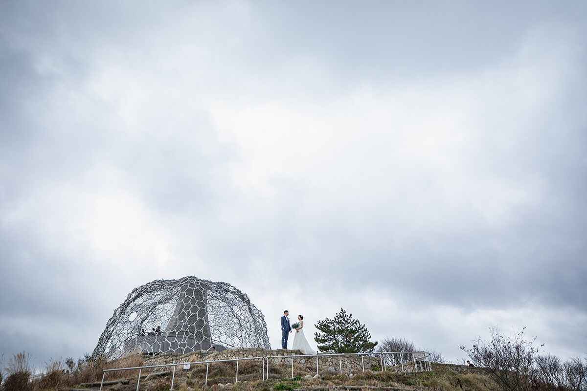
M 365 372 L 365 356 L 372 357 L 372 358 L 379 358 L 381 370 L 387 370 L 387 363 L 385 359 L 385 355 L 392 355 L 392 354 L 411 354 L 414 363 L 414 371 L 418 372 L 418 363 L 420 364 L 420 371 L 424 372 L 426 370 L 432 370 L 432 363 L 430 362 L 430 353 L 428 352 L 376 352 L 376 353 L 322 353 L 322 354 L 315 354 L 315 355 L 287 355 L 287 356 L 259 356 L 259 357 L 248 357 L 248 358 L 231 358 L 231 359 L 224 359 L 224 360 L 208 360 L 208 361 L 197 361 L 197 362 L 181 362 L 181 363 L 170 363 L 170 364 L 160 364 L 160 365 L 145 365 L 145 366 L 133 366 L 129 368 L 113 368 L 113 369 L 104 369 L 102 374 L 102 382 L 100 382 L 100 391 L 102 391 L 102 387 L 104 385 L 104 378 L 106 377 L 106 372 L 116 372 L 119 370 L 139 370 L 139 377 L 137 378 L 137 391 L 139 391 L 139 386 L 141 382 L 141 373 L 143 369 L 154 369 L 154 368 L 168 368 L 173 367 L 173 376 L 171 377 L 171 388 L 173 390 L 174 380 L 176 378 L 176 366 L 185 366 L 185 365 L 206 365 L 206 376 L 205 376 L 205 383 L 204 385 L 208 385 L 208 369 L 210 369 L 211 363 L 221 363 L 221 362 L 237 362 L 237 369 L 235 374 L 235 383 L 238 382 L 238 363 L 240 361 L 248 361 L 248 360 L 262 360 L 262 380 L 269 379 L 269 360 L 271 359 L 291 359 L 291 373 L 292 378 L 294 378 L 294 358 L 309 358 L 309 357 L 316 357 L 316 375 L 319 375 L 319 358 L 321 357 L 330 357 L 330 356 L 338 356 L 339 358 L 339 370 L 340 374 L 342 375 L 342 357 L 345 356 L 360 356 L 361 357 L 361 366 L 363 372 Z M 400 356 L 401 357 L 401 356 Z M 266 364 L 265 364 L 266 362 Z M 404 372 L 404 362 L 400 360 L 402 366 L 402 372 Z M 266 376 L 265 376 L 266 375 Z

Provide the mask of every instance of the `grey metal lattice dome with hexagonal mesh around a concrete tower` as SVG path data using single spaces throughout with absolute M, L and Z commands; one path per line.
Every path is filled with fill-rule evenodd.
M 247 294 L 190 276 L 134 288 L 107 322 L 94 355 L 187 353 L 212 345 L 271 349 L 265 317 Z

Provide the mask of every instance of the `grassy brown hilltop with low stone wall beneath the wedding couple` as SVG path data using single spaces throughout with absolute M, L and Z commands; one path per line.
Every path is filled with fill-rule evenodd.
M 41 378 L 29 383 L 30 390 L 98 390 L 102 380 L 103 369 L 135 368 L 137 366 L 167 365 L 169 363 L 218 361 L 227 358 L 253 358 L 259 353 L 267 355 L 292 354 L 292 351 L 262 351 L 262 349 L 233 349 L 216 353 L 167 353 L 156 356 L 127 355 L 113 361 L 86 358 L 86 362 L 78 362 L 70 370 L 48 371 Z M 269 365 L 269 379 L 266 366 L 261 359 L 251 359 L 237 363 L 218 362 L 210 365 L 191 365 L 189 369 L 176 366 L 175 372 L 170 367 L 159 367 L 141 370 L 140 390 L 166 391 L 171 389 L 171 381 L 175 390 L 231 390 L 231 391 L 294 391 L 294 390 L 443 390 L 443 391 L 488 391 L 495 389 L 492 382 L 482 369 L 469 368 L 461 365 L 432 364 L 432 370 L 414 372 L 413 363 L 407 362 L 402 368 L 393 367 L 381 370 L 378 359 L 360 358 L 339 359 L 328 361 L 320 358 L 316 374 L 316 363 L 313 358 L 295 359 L 293 365 L 289 358 L 272 358 Z M 358 360 L 358 361 L 357 361 Z M 336 362 L 336 365 L 332 365 Z M 54 365 L 58 368 L 58 365 Z M 293 368 L 293 378 L 292 378 Z M 342 374 L 340 373 L 342 370 Z M 206 374 L 208 378 L 206 380 Z M 138 369 L 120 372 L 107 372 L 103 390 L 134 391 L 137 389 Z M 263 380 L 265 378 L 265 380 Z M 207 383 L 207 384 L 206 384 Z M 24 389 L 22 389 L 24 390 Z M 19 391 L 22 391 L 19 389 Z M 6 389 L 6 391 L 12 391 Z

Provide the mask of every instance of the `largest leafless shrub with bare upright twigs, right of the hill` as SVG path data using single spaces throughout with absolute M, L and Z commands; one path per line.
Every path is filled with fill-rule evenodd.
M 542 346 L 534 346 L 536 338 L 524 339 L 525 327 L 504 336 L 495 328 L 490 328 L 491 339 L 478 338 L 473 348 L 461 349 L 477 364 L 489 370 L 494 381 L 504 391 L 531 390 L 534 361 Z

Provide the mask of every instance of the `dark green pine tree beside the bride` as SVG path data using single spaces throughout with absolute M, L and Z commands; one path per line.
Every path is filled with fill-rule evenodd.
M 371 334 L 365 325 L 342 308 L 334 319 L 318 321 L 315 327 L 321 331 L 316 332 L 314 338 L 321 352 L 367 353 L 377 345 L 377 342 L 369 341 Z

